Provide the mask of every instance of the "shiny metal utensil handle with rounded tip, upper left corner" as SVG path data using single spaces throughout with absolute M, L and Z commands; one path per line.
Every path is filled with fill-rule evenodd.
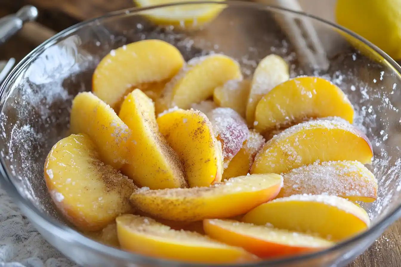
M 0 18 L 0 45 L 18 32 L 25 22 L 35 20 L 38 10 L 34 6 L 23 6 L 18 12 Z

